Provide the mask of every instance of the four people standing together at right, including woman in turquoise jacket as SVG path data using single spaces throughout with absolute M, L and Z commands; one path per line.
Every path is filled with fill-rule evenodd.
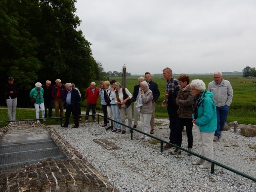
M 181 75 L 178 80 L 172 77 L 172 70 L 164 68 L 166 79 L 166 94 L 162 106 L 167 105 L 170 119 L 170 143 L 181 146 L 182 129 L 186 126 L 188 150 L 192 150 L 193 124 L 198 126 L 199 154 L 213 159 L 213 142 L 218 141 L 224 129 L 229 106 L 233 98 L 233 89 L 229 81 L 222 78 L 222 73 L 213 74 L 214 81 L 208 84 L 208 90 L 202 80 L 195 79 L 190 83 L 189 76 Z M 172 148 L 166 144 L 164 148 Z M 170 154 L 180 154 L 175 148 Z M 191 154 L 188 154 L 189 156 Z M 199 159 L 193 162 L 200 168 L 208 168 L 210 162 Z

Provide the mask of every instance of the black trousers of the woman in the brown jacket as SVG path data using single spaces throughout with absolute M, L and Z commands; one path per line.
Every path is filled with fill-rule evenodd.
M 192 135 L 192 128 L 193 122 L 192 118 L 180 118 L 177 119 L 177 127 L 176 127 L 176 145 L 181 146 L 182 143 L 182 129 L 186 126 L 186 132 L 188 137 L 188 148 L 193 147 L 193 135 Z

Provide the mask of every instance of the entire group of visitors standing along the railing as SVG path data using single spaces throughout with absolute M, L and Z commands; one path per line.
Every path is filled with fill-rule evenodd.
M 182 144 L 182 130 L 186 127 L 188 138 L 188 150 L 193 147 L 193 124 L 198 126 L 198 144 L 199 153 L 209 159 L 213 159 L 213 141 L 219 141 L 221 132 L 224 129 L 229 106 L 232 103 L 233 90 L 230 82 L 222 78 L 222 73 L 216 71 L 213 74 L 214 80 L 208 84 L 208 90 L 202 80 L 196 79 L 190 82 L 189 76 L 183 74 L 178 80 L 173 78 L 170 68 L 163 69 L 163 76 L 166 79 L 166 94 L 162 107 L 167 106 L 170 128 L 170 143 L 177 146 Z M 146 78 L 146 81 L 145 81 Z M 122 88 L 116 80 L 101 81 L 100 88 L 96 87 L 95 82 L 91 82 L 90 87 L 86 89 L 86 115 L 89 115 L 92 109 L 92 121 L 97 122 L 95 118 L 96 104 L 98 97 L 101 98 L 101 105 L 104 114 L 104 123 L 102 127 L 108 126 L 108 118 L 116 121 L 112 132 L 126 133 L 126 115 L 128 126 L 132 127 L 132 107 L 134 102 L 134 125 L 137 128 L 138 117 L 140 116 L 141 130 L 147 134 L 154 134 L 154 111 L 155 104 L 160 96 L 158 85 L 151 80 L 150 72 L 145 73 L 144 77 L 138 78 L 138 85 L 134 86 L 133 95 L 127 88 Z M 8 117 L 10 120 L 16 119 L 17 94 L 19 92 L 14 78 L 8 78 L 6 85 L 6 103 L 8 106 Z M 30 92 L 30 98 L 34 98 L 36 108 L 36 118 L 39 122 L 39 108 L 42 110 L 43 121 L 48 116 L 52 117 L 52 102 L 54 103 L 56 117 L 63 116 L 64 105 L 66 106 L 65 123 L 63 128 L 68 127 L 71 113 L 74 115 L 73 128 L 78 128 L 78 116 L 81 114 L 80 101 L 81 94 L 74 84 L 61 83 L 56 79 L 56 84 L 52 87 L 49 80 L 42 86 L 40 82 L 35 84 Z M 58 119 L 56 119 L 58 120 Z M 88 116 L 85 117 L 88 122 Z M 121 124 L 119 124 L 119 123 Z M 109 125 L 111 126 L 111 125 Z M 149 141 L 150 137 L 142 134 L 139 138 L 143 141 Z M 166 144 L 164 148 L 172 148 Z M 181 150 L 175 148 L 170 154 L 181 154 Z M 188 154 L 189 156 L 191 154 Z M 194 165 L 200 165 L 200 168 L 208 168 L 210 162 L 204 162 L 199 159 L 193 162 Z

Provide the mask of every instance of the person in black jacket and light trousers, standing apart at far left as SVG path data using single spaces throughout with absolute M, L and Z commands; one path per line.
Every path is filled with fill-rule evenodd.
M 19 89 L 13 81 L 13 77 L 8 77 L 8 84 L 5 86 L 6 104 L 10 121 L 16 120 L 17 95 L 19 93 Z

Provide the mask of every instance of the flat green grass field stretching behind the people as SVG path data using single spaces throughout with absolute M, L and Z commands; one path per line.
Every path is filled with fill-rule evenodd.
M 139 76 L 130 76 L 127 78 L 127 88 L 133 94 L 134 85 L 138 84 Z M 239 124 L 256 124 L 256 83 L 252 83 L 252 81 L 256 82 L 256 78 L 243 78 L 242 76 L 234 76 L 234 75 L 224 75 L 224 79 L 229 80 L 232 88 L 234 90 L 233 102 L 230 106 L 230 111 L 228 114 L 227 122 L 231 122 L 236 120 Z M 178 78 L 178 76 L 174 76 L 174 78 Z M 122 78 L 110 78 L 110 80 L 115 79 L 122 84 Z M 211 75 L 190 75 L 190 80 L 193 79 L 202 79 L 206 88 L 208 83 L 213 80 Z M 168 118 L 166 107 L 163 108 L 161 106 L 162 101 L 164 100 L 166 80 L 162 76 L 152 76 L 152 80 L 158 84 L 158 88 L 160 90 L 160 97 L 156 102 L 156 117 Z M 243 82 L 243 83 L 240 83 Z M 246 82 L 246 83 L 244 83 Z M 96 82 L 98 86 L 98 82 Z M 86 101 L 81 102 L 82 110 L 85 111 Z M 100 111 L 100 98 L 98 99 L 97 109 Z M 23 110 L 17 109 L 16 119 L 30 119 L 35 118 L 34 110 Z M 7 109 L 0 109 L 0 120 L 8 120 Z M 46 124 L 59 124 L 55 120 L 49 120 Z M 0 124 L 0 126 L 4 126 L 5 124 Z

